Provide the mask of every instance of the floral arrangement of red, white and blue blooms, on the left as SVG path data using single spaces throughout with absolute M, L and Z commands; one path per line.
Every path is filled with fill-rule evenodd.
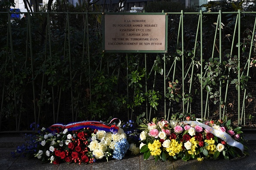
M 139 147 L 134 143 L 130 144 L 128 140 L 132 140 L 127 138 L 133 136 L 132 123 L 134 122 L 130 121 L 123 125 L 126 131 L 119 127 L 116 133 L 102 130 L 103 126 L 107 127 L 104 124 L 99 125 L 101 130 L 97 127 L 83 127 L 73 131 L 69 131 L 68 128 L 62 130 L 57 127 L 49 130 L 43 127 L 37 134 L 37 152 L 34 153 L 34 157 L 53 164 L 91 164 L 102 158 L 108 161 L 110 156 L 121 160 L 128 151 L 136 155 L 140 153 Z

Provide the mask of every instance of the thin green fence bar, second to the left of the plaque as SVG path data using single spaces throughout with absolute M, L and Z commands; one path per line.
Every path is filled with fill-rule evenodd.
M 68 22 L 68 42 L 69 42 L 69 76 L 70 76 L 70 90 L 71 90 L 71 105 L 72 105 L 72 121 L 74 121 L 74 106 L 73 106 L 73 88 L 72 88 L 72 61 L 71 61 L 71 44 L 70 44 L 70 27 L 69 27 L 69 11 L 67 11 Z

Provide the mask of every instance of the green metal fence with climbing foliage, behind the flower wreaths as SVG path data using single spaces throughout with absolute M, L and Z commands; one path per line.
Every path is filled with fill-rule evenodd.
M 27 17 L 12 21 L 13 13 Z M 104 13 L 0 15 L 8 18 L 1 25 L 0 131 L 112 111 L 128 119 L 194 113 L 255 128 L 256 12 L 166 12 L 168 53 L 137 55 L 102 52 Z

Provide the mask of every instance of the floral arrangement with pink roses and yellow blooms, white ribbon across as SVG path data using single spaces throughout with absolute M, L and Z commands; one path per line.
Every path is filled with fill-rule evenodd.
M 157 160 L 188 161 L 205 158 L 231 159 L 247 155 L 248 149 L 241 134 L 241 127 L 231 127 L 231 121 L 166 121 L 154 118 L 140 124 L 140 152 L 144 160 L 150 155 Z M 232 145 L 232 146 L 231 146 Z

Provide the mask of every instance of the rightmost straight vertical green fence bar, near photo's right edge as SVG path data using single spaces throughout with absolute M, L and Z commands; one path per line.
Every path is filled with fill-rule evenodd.
M 237 114 L 238 114 L 238 122 L 240 121 L 240 24 L 241 24 L 241 11 L 238 9 L 238 103 L 237 103 Z

